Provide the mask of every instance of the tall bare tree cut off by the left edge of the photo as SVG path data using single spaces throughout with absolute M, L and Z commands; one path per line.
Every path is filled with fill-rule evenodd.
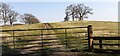
M 4 25 L 8 21 L 8 13 L 10 12 L 10 6 L 6 3 L 0 2 L 0 15 L 2 16 L 2 20 L 4 21 Z

